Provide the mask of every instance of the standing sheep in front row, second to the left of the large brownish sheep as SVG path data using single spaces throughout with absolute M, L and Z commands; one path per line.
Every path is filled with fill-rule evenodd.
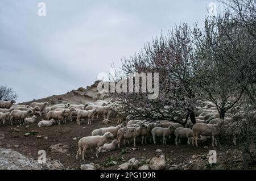
M 162 136 L 163 137 L 163 145 L 166 145 L 167 137 L 170 138 L 172 129 L 174 129 L 172 127 L 172 125 L 170 125 L 168 128 L 162 128 L 162 127 L 153 128 L 151 131 L 151 134 L 153 137 L 154 144 L 156 145 L 156 136 L 158 136 L 158 137 Z

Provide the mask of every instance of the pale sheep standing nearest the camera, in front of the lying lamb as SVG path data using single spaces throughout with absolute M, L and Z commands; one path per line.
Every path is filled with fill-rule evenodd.
M 79 154 L 82 154 L 82 160 L 84 161 L 84 154 L 88 148 L 96 147 L 96 157 L 98 158 L 98 148 L 113 138 L 113 134 L 110 132 L 104 133 L 103 136 L 86 136 L 79 140 L 79 150 L 76 153 L 76 159 L 79 158 Z

